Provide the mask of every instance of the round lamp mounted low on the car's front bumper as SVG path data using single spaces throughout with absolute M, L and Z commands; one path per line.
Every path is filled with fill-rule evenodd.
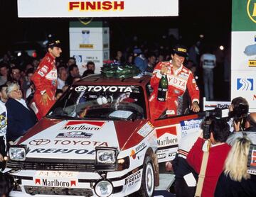
M 113 186 L 110 181 L 100 180 L 95 184 L 95 193 L 100 197 L 110 196 L 113 192 Z

